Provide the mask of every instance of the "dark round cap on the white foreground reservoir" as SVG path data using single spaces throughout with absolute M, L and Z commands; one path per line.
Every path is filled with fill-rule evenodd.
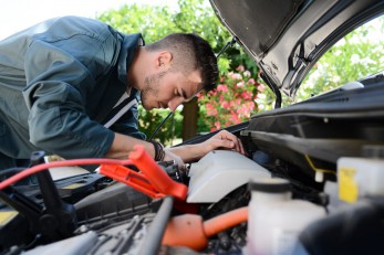
M 281 178 L 260 178 L 248 183 L 249 191 L 282 193 L 291 191 L 289 181 Z

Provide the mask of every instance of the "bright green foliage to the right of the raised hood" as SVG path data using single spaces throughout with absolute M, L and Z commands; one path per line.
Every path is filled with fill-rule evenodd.
M 384 70 L 384 17 L 349 33 L 314 65 L 298 91 L 297 102 Z

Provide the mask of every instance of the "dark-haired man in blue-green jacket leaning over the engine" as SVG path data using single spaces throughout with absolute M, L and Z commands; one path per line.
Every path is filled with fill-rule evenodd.
M 199 159 L 217 148 L 243 153 L 221 131 L 193 146 L 163 149 L 137 129 L 145 109 L 176 107 L 217 81 L 209 44 L 170 34 L 144 45 L 91 19 L 48 20 L 0 42 L 0 169 L 24 163 L 34 150 L 61 157 L 127 158 L 143 145 L 156 160 Z

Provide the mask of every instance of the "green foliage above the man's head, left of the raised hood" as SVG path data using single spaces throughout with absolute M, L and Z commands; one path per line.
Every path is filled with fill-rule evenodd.
M 207 40 L 216 53 L 231 41 L 231 35 L 217 19 L 205 0 L 178 0 L 178 7 L 125 4 L 118 10 L 106 11 L 96 19 L 123 33 L 141 32 L 146 43 L 152 43 L 173 32 L 194 32 Z M 252 73 L 257 67 L 239 45 L 227 49 L 219 59 L 221 73 L 242 65 Z

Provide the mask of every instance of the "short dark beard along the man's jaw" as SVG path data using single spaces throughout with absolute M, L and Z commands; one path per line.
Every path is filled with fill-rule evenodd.
M 152 102 L 155 102 L 159 94 L 159 82 L 167 72 L 148 75 L 144 78 L 144 87 L 141 91 L 142 105 L 144 109 L 149 110 L 157 107 L 151 106 Z M 152 98 L 152 99 L 151 99 Z

